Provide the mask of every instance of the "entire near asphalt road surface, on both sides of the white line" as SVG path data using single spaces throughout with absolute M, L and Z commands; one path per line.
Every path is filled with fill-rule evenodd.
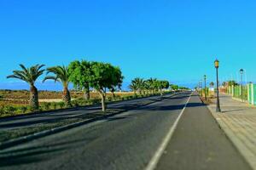
M 189 99 L 166 96 L 0 151 L 0 169 L 145 169 Z M 198 96 L 192 96 L 156 169 L 249 169 Z

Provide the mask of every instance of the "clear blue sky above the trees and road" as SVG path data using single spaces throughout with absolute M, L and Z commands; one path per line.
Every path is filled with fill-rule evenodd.
M 125 82 L 158 77 L 197 83 L 247 71 L 256 81 L 256 2 L 179 0 L 0 0 L 0 82 L 18 64 L 119 65 Z M 3 88 L 3 86 L 1 87 Z

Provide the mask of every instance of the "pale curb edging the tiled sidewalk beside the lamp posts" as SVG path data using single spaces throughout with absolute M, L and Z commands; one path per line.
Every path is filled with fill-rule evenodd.
M 212 111 L 210 105 L 207 105 L 207 108 L 212 113 L 213 118 L 218 123 L 218 127 L 220 127 L 224 131 L 225 136 L 230 140 L 231 144 L 234 145 L 236 150 L 238 150 L 238 152 L 248 163 L 248 165 L 252 167 L 253 170 L 256 170 L 256 159 L 255 156 L 253 155 L 253 152 L 247 149 L 245 144 L 236 137 L 236 133 L 230 130 L 230 127 L 216 115 L 217 113 L 215 111 Z

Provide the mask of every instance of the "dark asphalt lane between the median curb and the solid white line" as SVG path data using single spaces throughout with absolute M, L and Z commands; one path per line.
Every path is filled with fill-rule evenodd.
M 0 169 L 143 169 L 189 94 L 0 151 Z

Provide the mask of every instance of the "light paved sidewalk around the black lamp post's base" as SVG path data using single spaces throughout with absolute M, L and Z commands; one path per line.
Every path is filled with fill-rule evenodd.
M 208 105 L 219 126 L 241 155 L 256 170 L 256 108 L 220 94 L 222 113 L 216 113 L 216 100 Z

